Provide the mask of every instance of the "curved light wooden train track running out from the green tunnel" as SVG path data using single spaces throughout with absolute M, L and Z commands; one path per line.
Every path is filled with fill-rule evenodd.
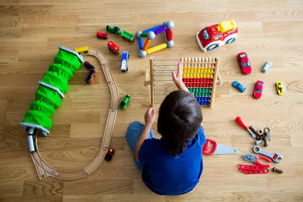
M 113 130 L 114 130 L 117 110 L 118 110 L 118 106 L 119 106 L 118 87 L 115 83 L 108 60 L 101 52 L 99 52 L 97 49 L 89 48 L 89 53 L 83 54 L 83 55 L 94 56 L 100 61 L 102 69 L 103 69 L 105 77 L 106 77 L 106 80 L 107 80 L 107 83 L 111 90 L 112 101 L 111 101 L 111 106 L 109 109 L 108 119 L 107 119 L 104 136 L 103 136 L 103 140 L 102 140 L 102 148 L 100 148 L 99 153 L 95 157 L 95 159 L 89 165 L 84 167 L 83 169 L 78 170 L 78 171 L 72 171 L 72 172 L 59 171 L 59 170 L 49 166 L 42 159 L 42 157 L 39 153 L 39 150 L 38 150 L 37 134 L 36 134 L 35 141 L 36 141 L 37 151 L 35 153 L 31 154 L 31 157 L 34 162 L 34 165 L 35 165 L 35 168 L 37 170 L 38 177 L 40 180 L 42 180 L 43 178 L 46 178 L 46 177 L 55 177 L 55 178 L 64 179 L 64 180 L 73 180 L 73 179 L 79 179 L 79 178 L 86 177 L 87 175 L 89 175 L 93 171 L 95 171 L 102 164 L 102 162 L 104 161 L 104 158 L 108 152 Z

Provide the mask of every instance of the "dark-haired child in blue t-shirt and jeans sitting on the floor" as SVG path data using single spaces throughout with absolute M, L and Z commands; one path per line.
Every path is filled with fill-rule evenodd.
M 145 113 L 145 125 L 136 121 L 126 132 L 126 139 L 134 155 L 142 180 L 160 195 L 178 195 L 191 191 L 203 171 L 202 149 L 206 142 L 202 127 L 202 113 L 194 96 L 182 82 L 181 64 L 173 81 L 179 90 L 166 96 L 159 109 L 156 139 L 151 129 L 156 109 Z

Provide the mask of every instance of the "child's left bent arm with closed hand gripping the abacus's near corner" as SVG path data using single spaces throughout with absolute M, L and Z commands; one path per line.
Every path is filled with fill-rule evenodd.
M 151 128 L 151 125 L 153 125 L 154 121 L 155 121 L 155 117 L 156 117 L 156 108 L 149 108 L 144 116 L 144 120 L 145 120 L 145 126 L 142 130 L 142 133 L 137 141 L 136 147 L 135 147 L 135 159 L 137 161 L 139 161 L 139 150 L 140 150 L 140 146 L 142 145 L 142 143 L 144 142 L 145 139 L 148 139 L 149 137 L 149 131 Z

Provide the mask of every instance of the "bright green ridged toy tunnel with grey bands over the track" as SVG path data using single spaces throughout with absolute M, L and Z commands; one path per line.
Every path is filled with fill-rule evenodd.
M 35 93 L 36 99 L 30 104 L 30 110 L 24 115 L 20 122 L 23 129 L 33 134 L 41 130 L 46 136 L 52 127 L 52 120 L 49 118 L 56 111 L 55 107 L 61 106 L 61 98 L 69 89 L 68 80 L 74 75 L 83 63 L 83 57 L 77 52 L 63 46 L 59 46 L 58 55 L 54 63 L 45 72 L 44 77 L 39 81 L 39 87 Z

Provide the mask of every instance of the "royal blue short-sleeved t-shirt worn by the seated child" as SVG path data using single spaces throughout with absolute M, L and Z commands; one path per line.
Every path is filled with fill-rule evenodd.
M 204 129 L 186 144 L 175 158 L 163 147 L 162 139 L 145 139 L 139 149 L 139 162 L 144 164 L 142 180 L 160 195 L 178 195 L 191 191 L 203 171 L 202 149 L 206 143 Z

